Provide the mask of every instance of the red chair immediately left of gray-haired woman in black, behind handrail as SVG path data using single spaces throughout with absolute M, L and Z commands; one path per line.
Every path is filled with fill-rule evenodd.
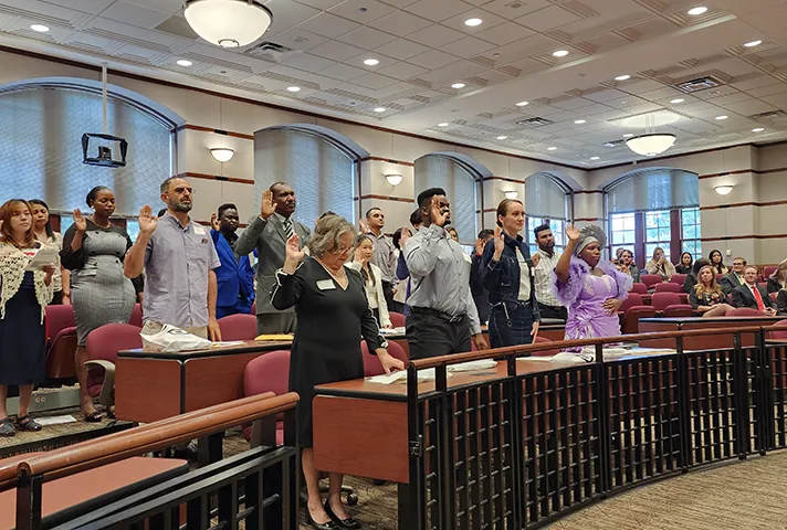
M 252 359 L 243 369 L 243 395 L 273 392 L 284 395 L 290 391 L 290 350 L 276 350 Z M 243 428 L 243 435 L 251 439 L 251 426 Z M 284 444 L 284 414 L 276 416 L 276 445 Z

